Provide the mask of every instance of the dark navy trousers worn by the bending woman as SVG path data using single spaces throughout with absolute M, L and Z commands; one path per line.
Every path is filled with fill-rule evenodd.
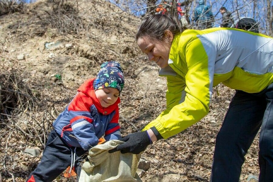
M 236 91 L 216 137 L 211 182 L 239 181 L 244 156 L 260 127 L 259 182 L 273 181 L 272 102 L 273 84 L 260 93 Z

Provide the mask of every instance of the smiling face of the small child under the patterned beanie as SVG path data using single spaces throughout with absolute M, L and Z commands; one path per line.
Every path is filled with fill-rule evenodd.
M 116 88 L 107 87 L 95 91 L 96 97 L 102 107 L 111 106 L 119 98 L 120 92 Z

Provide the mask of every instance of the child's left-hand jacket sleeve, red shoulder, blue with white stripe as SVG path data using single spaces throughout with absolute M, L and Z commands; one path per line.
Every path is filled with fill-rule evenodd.
M 73 134 L 84 150 L 89 150 L 99 141 L 92 124 L 93 117 L 90 111 L 92 103 L 90 97 L 79 92 L 68 106 Z

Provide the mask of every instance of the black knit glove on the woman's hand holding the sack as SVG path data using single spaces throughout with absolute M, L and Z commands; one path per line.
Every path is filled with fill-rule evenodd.
M 144 151 L 148 145 L 150 145 L 152 140 L 148 135 L 147 131 L 131 133 L 124 136 L 120 141 L 125 143 L 118 145 L 116 148 L 109 150 L 109 153 L 120 151 L 121 153 L 133 153 L 139 154 Z

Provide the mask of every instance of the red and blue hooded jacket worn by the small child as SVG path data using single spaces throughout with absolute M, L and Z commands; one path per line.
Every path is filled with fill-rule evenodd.
M 102 107 L 93 88 L 94 79 L 88 79 L 78 89 L 66 109 L 53 122 L 53 127 L 70 147 L 89 150 L 97 145 L 104 135 L 106 141 L 120 139 L 120 98 L 109 106 Z

